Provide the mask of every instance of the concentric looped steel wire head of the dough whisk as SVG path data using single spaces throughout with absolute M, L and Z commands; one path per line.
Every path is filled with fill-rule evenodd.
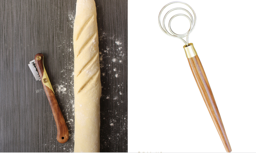
M 186 9 L 180 8 L 180 7 L 176 7 L 176 8 L 171 9 L 170 11 L 168 11 L 168 12 L 165 14 L 165 16 L 164 16 L 164 18 L 163 18 L 163 20 L 162 20 L 162 25 L 161 25 L 160 17 L 161 17 L 162 11 L 164 11 L 164 9 L 165 9 L 167 6 L 169 6 L 169 5 L 171 5 L 171 4 L 174 4 L 174 3 L 181 3 L 181 4 L 185 4 L 186 6 L 188 6 L 188 7 L 192 10 L 194 17 L 192 17 L 191 13 L 190 13 L 189 11 L 187 11 Z M 182 10 L 182 11 L 185 11 L 185 12 L 188 13 L 189 17 L 188 17 L 186 14 L 176 14 L 176 15 L 172 16 L 171 19 L 169 20 L 169 24 L 168 24 L 169 30 L 170 30 L 170 32 L 171 32 L 171 33 L 169 33 L 169 31 L 167 31 L 167 30 L 166 30 L 166 27 L 165 27 L 165 19 L 166 19 L 167 15 L 168 15 L 170 12 L 174 11 L 174 10 Z M 190 29 L 189 29 L 185 34 L 181 34 L 181 35 L 180 35 L 180 34 L 176 34 L 176 33 L 174 33 L 174 31 L 172 31 L 172 29 L 171 29 L 171 21 L 172 21 L 172 19 L 174 19 L 174 18 L 177 17 L 177 16 L 184 16 L 184 17 L 186 17 L 186 18 L 189 20 L 189 22 L 190 22 Z M 191 6 L 189 6 L 188 4 L 186 4 L 185 2 L 180 2 L 180 1 L 170 2 L 170 3 L 168 3 L 167 5 L 165 5 L 165 6 L 162 8 L 162 10 L 160 11 L 159 16 L 158 16 L 158 23 L 159 23 L 159 26 L 160 26 L 161 30 L 162 30 L 165 34 L 167 34 L 167 35 L 169 35 L 169 36 L 172 36 L 172 37 L 179 38 L 179 39 L 181 39 L 186 45 L 188 45 L 188 36 L 189 36 L 189 34 L 193 31 L 193 29 L 194 29 L 194 27 L 195 27 L 195 25 L 196 25 L 196 13 L 194 12 L 193 8 L 192 8 Z M 185 41 L 184 39 L 182 39 L 183 37 L 186 37 L 186 36 L 187 36 L 187 39 L 186 39 L 187 41 Z

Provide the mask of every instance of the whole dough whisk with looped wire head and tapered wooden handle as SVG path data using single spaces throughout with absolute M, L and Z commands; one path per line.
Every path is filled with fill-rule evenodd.
M 161 14 L 162 14 L 162 11 L 169 5 L 171 4 L 174 4 L 174 3 L 180 3 L 180 4 L 184 4 L 186 6 L 188 6 L 191 11 L 193 12 L 193 16 L 192 14 L 187 11 L 186 9 L 184 8 L 180 8 L 180 7 L 177 7 L 177 8 L 173 8 L 171 10 L 169 10 L 163 20 L 162 20 L 162 24 L 161 24 L 161 20 L 160 20 L 160 17 L 161 17 Z M 167 15 L 172 12 L 172 11 L 175 11 L 175 10 L 182 10 L 184 11 L 185 13 L 188 14 L 188 16 L 186 14 L 175 14 L 174 16 L 172 16 L 169 20 L 169 24 L 168 24 L 168 28 L 170 30 L 167 31 L 166 27 L 165 27 L 165 20 L 166 20 L 166 17 Z M 174 19 L 175 17 L 177 16 L 184 16 L 186 17 L 189 22 L 190 22 L 190 29 L 185 33 L 185 34 L 176 34 L 172 31 L 171 29 L 171 21 L 172 19 Z M 189 34 L 193 31 L 195 25 L 196 25 L 196 14 L 194 12 L 194 10 L 192 9 L 191 6 L 189 6 L 188 4 L 184 3 L 184 2 L 180 2 L 180 1 L 175 1 L 175 2 L 170 2 L 169 4 L 165 5 L 162 10 L 160 11 L 159 13 L 159 16 L 158 16 L 158 23 L 159 23 L 159 26 L 161 28 L 161 30 L 169 35 L 169 36 L 172 36 L 172 37 L 176 37 L 176 38 L 179 38 L 181 39 L 186 45 L 183 46 L 183 48 L 185 49 L 185 53 L 186 53 L 186 56 L 187 56 L 187 59 L 188 59 L 188 63 L 190 64 L 190 68 L 191 68 L 191 71 L 193 73 L 193 76 L 196 80 L 196 83 L 197 83 L 197 86 L 203 96 L 203 99 L 204 99 L 204 102 L 208 108 L 208 111 L 210 113 L 210 116 L 212 117 L 212 120 L 214 122 L 214 125 L 219 133 L 219 136 L 223 142 L 223 145 L 226 149 L 226 152 L 231 152 L 231 147 L 230 147 L 230 144 L 229 144 L 229 140 L 228 140 L 228 137 L 226 135 L 226 132 L 225 132 L 225 129 L 224 129 L 224 126 L 223 126 L 223 123 L 222 123 L 222 119 L 220 117 L 220 114 L 219 114 L 219 110 L 218 110 L 218 107 L 216 105 L 216 102 L 215 102 L 215 99 L 214 99 L 214 96 L 213 96 L 213 93 L 212 93 L 212 90 L 210 88 L 210 85 L 209 85 L 209 82 L 208 82 L 208 79 L 206 77 L 206 73 L 204 72 L 204 69 L 203 69 L 203 66 L 201 64 L 201 61 L 197 55 L 197 52 L 196 50 L 194 49 L 194 46 L 193 46 L 193 43 L 188 43 L 188 36 Z M 186 41 L 184 39 L 182 39 L 183 37 L 186 37 Z

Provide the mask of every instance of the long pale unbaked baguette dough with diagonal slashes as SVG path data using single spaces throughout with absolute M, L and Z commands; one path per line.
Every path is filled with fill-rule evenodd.
M 77 0 L 74 23 L 74 152 L 100 152 L 100 61 L 94 0 Z

